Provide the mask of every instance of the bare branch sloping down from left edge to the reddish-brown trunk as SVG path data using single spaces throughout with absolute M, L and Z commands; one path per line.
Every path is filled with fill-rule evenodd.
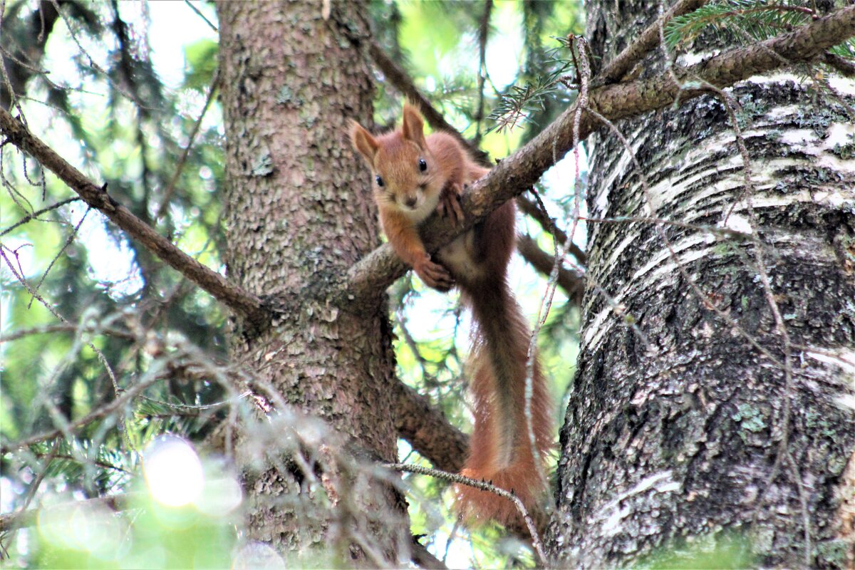
M 267 311 L 263 309 L 262 301 L 251 293 L 244 291 L 227 281 L 220 273 L 205 267 L 191 256 L 178 249 L 167 238 L 164 238 L 142 220 L 131 213 L 129 209 L 116 202 L 106 191 L 106 186 L 96 185 L 86 178 L 77 168 L 66 162 L 27 130 L 20 120 L 15 119 L 5 109 L 0 109 L 0 132 L 7 141 L 27 152 L 38 160 L 45 168 L 77 192 L 92 208 L 100 210 L 116 226 L 121 227 L 131 238 L 143 244 L 145 248 L 158 256 L 169 266 L 177 269 L 187 279 L 208 291 L 229 309 L 244 315 L 251 323 L 261 325 L 267 320 Z

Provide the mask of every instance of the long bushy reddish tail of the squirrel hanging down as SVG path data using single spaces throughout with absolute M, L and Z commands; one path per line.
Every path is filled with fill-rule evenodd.
M 464 291 L 463 300 L 472 308 L 476 327 L 475 428 L 461 473 L 514 491 L 529 508 L 545 491 L 544 457 L 552 443 L 552 421 L 551 398 L 536 356 L 527 406 L 528 324 L 504 275 Z M 457 485 L 457 497 L 469 520 L 519 520 L 514 504 L 493 493 Z

